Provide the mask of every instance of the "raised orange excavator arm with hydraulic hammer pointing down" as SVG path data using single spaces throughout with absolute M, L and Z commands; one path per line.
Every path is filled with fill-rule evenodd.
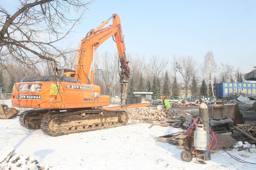
M 113 25 L 105 26 L 113 18 Z M 115 37 L 117 45 L 117 51 L 120 60 L 120 95 L 121 104 L 125 105 L 126 91 L 128 85 L 128 79 L 130 77 L 130 68 L 128 66 L 129 61 L 126 60 L 125 55 L 125 44 L 123 40 L 123 33 L 121 28 L 121 21 L 117 14 L 113 14 L 111 18 L 102 22 L 96 29 L 92 29 L 87 35 L 81 40 L 78 45 L 78 52 L 75 64 L 75 79 L 78 83 L 87 84 L 89 80 L 90 68 L 91 79 L 90 84 L 94 84 L 94 53 L 96 49 L 111 36 Z

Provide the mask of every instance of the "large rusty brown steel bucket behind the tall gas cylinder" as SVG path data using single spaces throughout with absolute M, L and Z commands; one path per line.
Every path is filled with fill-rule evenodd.
M 213 112 L 212 112 L 213 109 Z M 244 118 L 239 110 L 238 104 L 208 105 L 209 119 L 230 118 L 237 124 L 244 124 Z

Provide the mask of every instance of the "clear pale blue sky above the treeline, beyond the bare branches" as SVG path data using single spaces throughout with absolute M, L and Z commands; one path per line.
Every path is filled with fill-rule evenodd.
M 77 47 L 88 31 L 117 13 L 126 52 L 170 60 L 173 54 L 192 55 L 203 63 L 212 50 L 218 65 L 230 63 L 245 73 L 256 66 L 255 9 L 253 0 L 98 0 L 69 41 Z M 116 51 L 112 39 L 98 48 L 98 52 L 106 50 Z

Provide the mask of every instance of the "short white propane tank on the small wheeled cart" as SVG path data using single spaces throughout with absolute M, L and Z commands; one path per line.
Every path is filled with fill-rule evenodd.
M 203 125 L 196 125 L 196 130 L 194 131 L 194 146 L 197 150 L 206 150 L 207 137 Z

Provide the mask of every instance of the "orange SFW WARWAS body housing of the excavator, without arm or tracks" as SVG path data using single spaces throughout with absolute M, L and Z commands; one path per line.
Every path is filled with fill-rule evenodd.
M 70 109 L 102 107 L 110 104 L 100 87 L 69 82 L 23 82 L 14 84 L 14 107 Z

